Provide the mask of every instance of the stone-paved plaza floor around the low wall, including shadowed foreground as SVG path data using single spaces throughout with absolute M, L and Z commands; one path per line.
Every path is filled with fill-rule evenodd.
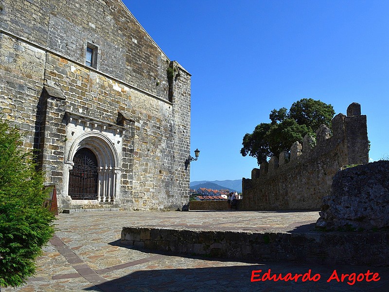
M 236 262 L 195 256 L 166 255 L 134 250 L 120 243 L 123 226 L 166 227 L 253 232 L 301 232 L 312 229 L 318 212 L 87 212 L 60 214 L 56 232 L 37 274 L 26 285 L 1 291 L 388 291 L 389 268 L 292 263 Z M 366 248 L 369 248 L 368 246 Z M 251 282 L 252 271 L 263 274 L 320 274 L 315 281 Z M 349 285 L 333 280 L 337 273 L 379 273 L 377 282 Z M 255 277 L 257 278 L 257 277 Z

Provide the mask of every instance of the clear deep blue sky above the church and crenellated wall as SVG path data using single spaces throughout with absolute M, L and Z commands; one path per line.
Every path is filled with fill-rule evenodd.
M 124 1 L 192 74 L 191 181 L 249 178 L 242 138 L 301 98 L 367 115 L 370 157 L 389 156 L 389 1 Z

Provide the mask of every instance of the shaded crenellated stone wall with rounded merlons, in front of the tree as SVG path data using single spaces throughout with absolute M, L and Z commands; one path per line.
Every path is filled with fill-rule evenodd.
M 366 116 L 360 105 L 351 104 L 347 116 L 332 120 L 333 135 L 324 125 L 314 140 L 306 135 L 289 153 L 272 157 L 260 169 L 253 169 L 251 179 L 243 178 L 243 210 L 319 210 L 321 199 L 331 192 L 336 171 L 348 164 L 369 161 Z

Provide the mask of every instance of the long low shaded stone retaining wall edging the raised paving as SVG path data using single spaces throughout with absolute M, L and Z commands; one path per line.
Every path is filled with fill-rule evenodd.
M 389 265 L 389 233 L 291 234 L 123 227 L 121 241 L 136 248 L 229 259 Z

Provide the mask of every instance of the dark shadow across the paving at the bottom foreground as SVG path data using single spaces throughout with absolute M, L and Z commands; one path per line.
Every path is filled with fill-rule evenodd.
M 233 264 L 233 263 L 231 263 Z M 142 271 L 136 271 L 120 278 L 107 281 L 96 287 L 104 292 L 129 292 L 129 291 L 294 291 L 294 292 L 320 292 L 320 291 L 366 291 L 380 292 L 387 291 L 388 271 L 381 268 L 381 280 L 378 282 L 355 282 L 354 285 L 327 279 L 334 271 L 334 267 L 325 266 L 307 266 L 293 264 L 266 264 L 266 265 L 243 265 L 228 267 L 194 267 L 189 269 L 156 269 L 156 266 L 148 266 Z M 251 282 L 252 271 L 254 279 L 271 270 L 270 275 L 283 274 L 305 274 L 309 269 L 311 277 L 315 274 L 320 275 L 318 281 L 301 281 L 301 278 L 295 282 L 289 281 L 255 281 Z M 378 269 L 378 268 L 377 268 Z M 259 272 L 261 270 L 261 272 Z M 337 273 L 366 273 L 363 267 L 337 267 Z M 93 291 L 95 288 L 85 289 L 84 291 Z M 94 290 L 95 291 L 95 290 Z

